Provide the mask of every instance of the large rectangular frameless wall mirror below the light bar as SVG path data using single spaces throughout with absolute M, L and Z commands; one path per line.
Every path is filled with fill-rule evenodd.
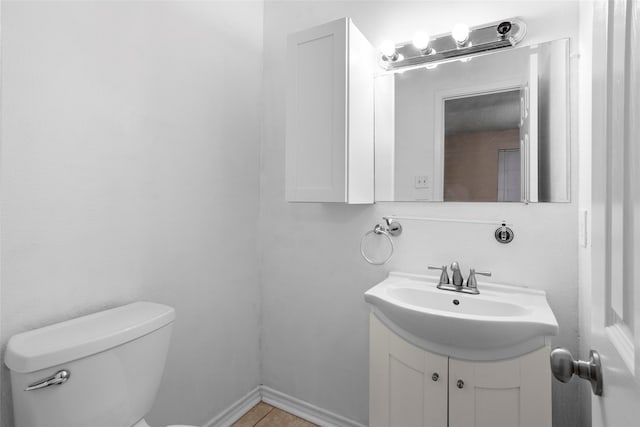
M 376 201 L 568 202 L 568 39 L 376 77 Z

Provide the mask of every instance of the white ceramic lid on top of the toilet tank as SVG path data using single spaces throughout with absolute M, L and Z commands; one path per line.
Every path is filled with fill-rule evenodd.
M 20 373 L 50 368 L 132 341 L 175 317 L 172 307 L 152 302 L 100 311 L 12 336 L 4 362 Z

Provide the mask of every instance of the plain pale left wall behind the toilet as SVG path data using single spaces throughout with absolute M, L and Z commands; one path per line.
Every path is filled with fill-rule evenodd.
M 262 11 L 2 2 L 2 345 L 176 307 L 154 425 L 201 425 L 259 383 Z

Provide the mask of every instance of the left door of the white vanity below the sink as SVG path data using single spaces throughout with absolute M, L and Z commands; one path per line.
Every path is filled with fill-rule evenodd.
M 370 427 L 446 427 L 448 358 L 370 320 Z

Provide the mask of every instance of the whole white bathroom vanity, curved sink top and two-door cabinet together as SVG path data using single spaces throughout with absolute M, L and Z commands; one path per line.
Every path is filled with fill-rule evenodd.
M 558 330 L 544 292 L 391 273 L 371 304 L 369 425 L 551 426 L 549 337 Z

